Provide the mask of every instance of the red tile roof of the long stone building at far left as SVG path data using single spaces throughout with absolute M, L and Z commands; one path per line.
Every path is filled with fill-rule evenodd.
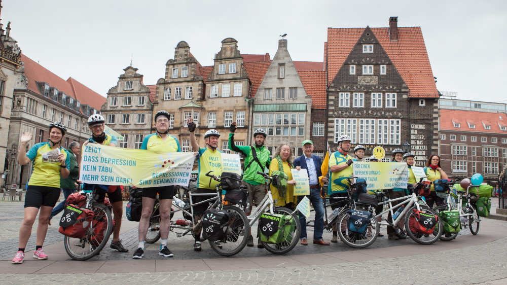
M 24 74 L 28 80 L 28 90 L 44 96 L 39 91 L 36 82 L 46 82 L 50 87 L 55 87 L 58 91 L 64 92 L 67 96 L 80 101 L 81 104 L 90 105 L 95 110 L 100 110 L 105 102 L 105 98 L 102 95 L 81 84 L 74 78 L 69 77 L 65 81 L 24 54 L 21 54 L 21 60 L 25 65 Z

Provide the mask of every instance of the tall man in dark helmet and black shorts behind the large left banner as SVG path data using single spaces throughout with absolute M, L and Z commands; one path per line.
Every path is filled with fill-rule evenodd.
M 178 140 L 168 134 L 170 114 L 167 111 L 160 110 L 155 113 L 155 133 L 149 134 L 142 140 L 141 150 L 148 150 L 159 154 L 168 152 L 180 152 Z M 176 193 L 173 185 L 160 187 L 142 188 L 142 210 L 139 219 L 138 243 L 133 259 L 141 259 L 144 255 L 144 239 L 150 226 L 150 217 L 155 205 L 155 199 L 159 194 L 160 209 L 160 248 L 159 255 L 164 257 L 173 257 L 174 254 L 167 247 L 167 238 L 169 237 L 169 224 L 171 222 L 172 197 Z

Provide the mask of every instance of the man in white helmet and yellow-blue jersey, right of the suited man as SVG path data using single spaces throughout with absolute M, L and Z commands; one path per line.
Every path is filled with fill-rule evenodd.
M 346 134 L 338 137 L 338 150 L 329 158 L 329 169 L 331 179 L 328 185 L 328 195 L 331 199 L 331 209 L 343 207 L 347 203 L 347 190 L 349 183 L 348 177 L 352 177 L 352 157 L 348 155 L 350 151 L 350 137 Z M 338 242 L 338 232 L 336 225 L 333 226 L 333 237 L 331 242 Z

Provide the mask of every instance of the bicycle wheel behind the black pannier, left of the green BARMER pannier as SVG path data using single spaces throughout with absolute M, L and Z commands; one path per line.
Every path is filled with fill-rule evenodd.
M 238 207 L 226 205 L 223 207 L 229 215 L 229 226 L 224 238 L 218 242 L 208 240 L 213 251 L 222 256 L 233 256 L 243 250 L 248 237 L 250 225 L 245 213 Z

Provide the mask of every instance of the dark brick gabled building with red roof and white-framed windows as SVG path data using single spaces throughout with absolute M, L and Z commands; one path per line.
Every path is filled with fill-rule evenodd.
M 410 144 L 416 165 L 438 152 L 438 98 L 420 27 L 328 28 L 327 136 L 333 150 L 341 134 L 366 154 L 387 156 Z

